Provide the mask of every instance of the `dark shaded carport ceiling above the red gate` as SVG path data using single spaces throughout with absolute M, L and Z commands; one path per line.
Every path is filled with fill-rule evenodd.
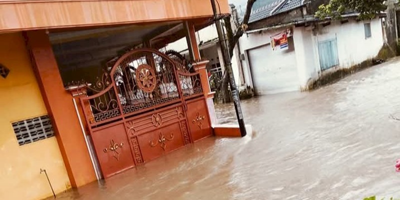
M 165 32 L 183 29 L 179 21 L 151 25 L 125 25 L 67 32 L 50 32 L 49 38 L 59 67 L 80 68 L 99 65 L 143 41 Z

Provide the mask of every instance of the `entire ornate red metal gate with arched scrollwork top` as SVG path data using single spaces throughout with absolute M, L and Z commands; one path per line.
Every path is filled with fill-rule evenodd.
M 105 178 L 211 135 L 199 74 L 153 49 L 121 56 L 80 98 Z

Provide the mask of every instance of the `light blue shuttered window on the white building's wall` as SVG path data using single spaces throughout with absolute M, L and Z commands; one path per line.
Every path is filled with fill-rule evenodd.
M 329 69 L 339 64 L 336 39 L 318 42 L 318 53 L 321 70 Z

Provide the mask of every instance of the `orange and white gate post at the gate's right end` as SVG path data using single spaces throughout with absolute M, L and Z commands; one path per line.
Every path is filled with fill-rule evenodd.
M 211 127 L 214 127 L 217 124 L 214 101 L 213 101 L 215 92 L 211 92 L 211 89 L 209 87 L 208 73 L 206 69 L 206 65 L 208 62 L 209 62 L 208 60 L 195 62 L 192 64 L 192 66 L 196 70 L 196 72 L 198 72 L 200 75 L 201 87 L 203 89 L 203 94 L 207 102 L 208 115 L 211 121 Z

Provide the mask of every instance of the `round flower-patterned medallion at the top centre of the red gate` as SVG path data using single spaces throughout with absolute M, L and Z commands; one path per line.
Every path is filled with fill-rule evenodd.
M 150 65 L 141 64 L 136 69 L 137 86 L 144 92 L 152 92 L 155 88 L 155 73 Z

